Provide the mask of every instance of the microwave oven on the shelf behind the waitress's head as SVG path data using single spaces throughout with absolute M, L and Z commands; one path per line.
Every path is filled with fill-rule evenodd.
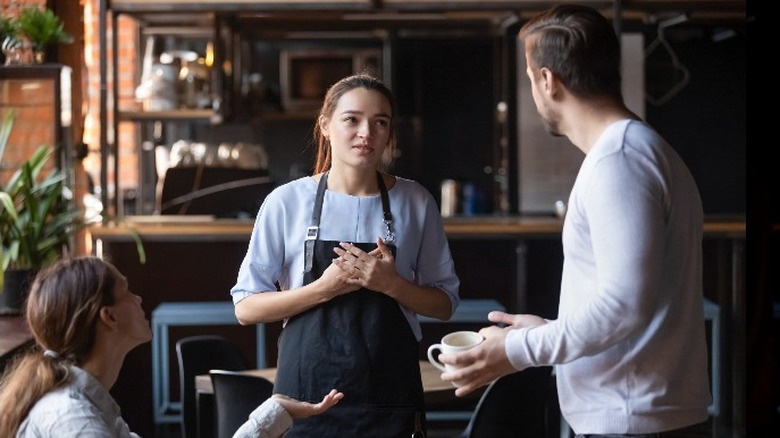
M 340 79 L 355 73 L 381 78 L 380 49 L 292 48 L 280 52 L 279 78 L 286 111 L 317 110 L 325 93 Z

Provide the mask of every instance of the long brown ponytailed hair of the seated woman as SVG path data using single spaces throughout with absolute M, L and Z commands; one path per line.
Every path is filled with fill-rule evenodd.
M 36 275 L 25 307 L 36 345 L 0 380 L 0 436 L 16 436 L 38 400 L 69 380 L 95 344 L 100 309 L 114 303 L 119 273 L 97 257 L 62 259 Z

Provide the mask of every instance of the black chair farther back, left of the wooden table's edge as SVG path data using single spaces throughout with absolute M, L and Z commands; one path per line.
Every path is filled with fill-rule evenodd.
M 183 438 L 197 438 L 198 409 L 195 400 L 195 376 L 208 374 L 209 370 L 247 370 L 249 360 L 241 348 L 228 338 L 217 335 L 189 336 L 176 342 L 179 361 L 179 388 L 182 404 L 181 429 Z M 206 411 L 205 409 L 203 411 Z M 206 419 L 211 424 L 212 419 Z M 201 436 L 209 436 L 201 430 Z

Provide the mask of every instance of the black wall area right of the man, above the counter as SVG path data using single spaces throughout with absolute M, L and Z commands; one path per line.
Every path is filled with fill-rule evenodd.
M 680 27 L 666 31 L 690 81 L 667 103 L 647 103 L 646 119 L 680 153 L 691 169 L 707 214 L 747 210 L 747 41 L 738 35 L 714 41 L 721 28 Z M 646 33 L 649 44 L 656 33 Z M 649 89 L 674 85 L 653 65 L 646 68 Z M 671 63 L 666 62 L 668 70 Z M 655 82 L 654 82 L 655 81 Z M 661 82 L 660 84 L 658 82 Z

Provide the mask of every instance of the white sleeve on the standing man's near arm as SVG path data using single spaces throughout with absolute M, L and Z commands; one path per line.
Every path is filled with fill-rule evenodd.
M 665 218 L 660 184 L 648 161 L 630 151 L 601 157 L 588 176 L 567 213 L 577 232 L 565 234 L 559 317 L 509 334 L 516 369 L 593 356 L 653 319 Z

